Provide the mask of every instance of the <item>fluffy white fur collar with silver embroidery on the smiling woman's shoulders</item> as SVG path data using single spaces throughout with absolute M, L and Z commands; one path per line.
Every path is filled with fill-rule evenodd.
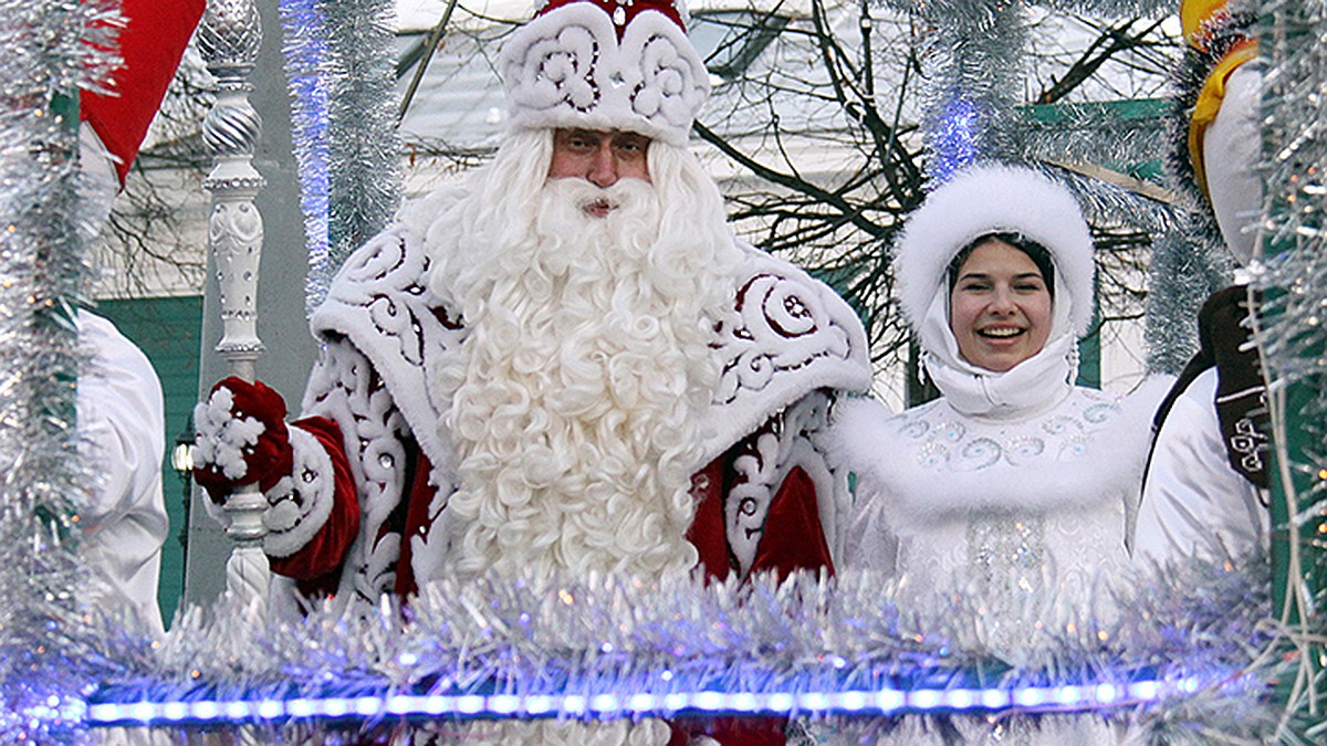
M 1132 512 L 1161 392 L 1164 381 L 1128 397 L 1075 388 L 1016 423 L 965 417 L 943 398 L 894 417 L 874 401 L 849 401 L 824 445 L 835 466 L 859 475 L 859 502 L 889 500 L 900 532 L 973 510 L 1047 514 L 1123 500 Z

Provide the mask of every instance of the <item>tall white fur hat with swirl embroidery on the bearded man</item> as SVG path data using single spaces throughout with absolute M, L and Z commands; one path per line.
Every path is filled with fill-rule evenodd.
M 683 0 L 551 0 L 502 49 L 516 127 L 632 130 L 685 145 L 710 96 Z

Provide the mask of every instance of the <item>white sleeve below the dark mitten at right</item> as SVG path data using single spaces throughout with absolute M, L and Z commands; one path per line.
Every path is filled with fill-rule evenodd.
M 1139 506 L 1136 563 L 1239 556 L 1267 546 L 1259 490 L 1226 461 L 1216 389 L 1216 369 L 1194 378 L 1157 434 Z

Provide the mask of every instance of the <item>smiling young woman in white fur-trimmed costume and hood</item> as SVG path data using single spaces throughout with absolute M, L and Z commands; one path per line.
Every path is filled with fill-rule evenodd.
M 898 415 L 840 406 L 829 451 L 857 474 L 843 567 L 893 579 L 905 613 L 971 611 L 990 654 L 1024 662 L 1038 629 L 1115 615 L 1154 392 L 1127 401 L 1074 384 L 1092 239 L 1068 190 L 1036 171 L 974 167 L 938 187 L 909 218 L 894 272 L 942 396 Z M 890 738 L 1116 739 L 1092 717 L 1009 733 L 1019 722 L 906 718 Z

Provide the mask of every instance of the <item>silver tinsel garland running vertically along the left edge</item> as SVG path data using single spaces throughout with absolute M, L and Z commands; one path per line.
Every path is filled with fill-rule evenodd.
M 0 0 L 0 742 L 50 742 L 105 670 L 74 600 L 94 471 L 77 457 L 73 315 L 93 227 L 77 123 L 52 102 L 105 90 L 118 23 L 111 3 Z

